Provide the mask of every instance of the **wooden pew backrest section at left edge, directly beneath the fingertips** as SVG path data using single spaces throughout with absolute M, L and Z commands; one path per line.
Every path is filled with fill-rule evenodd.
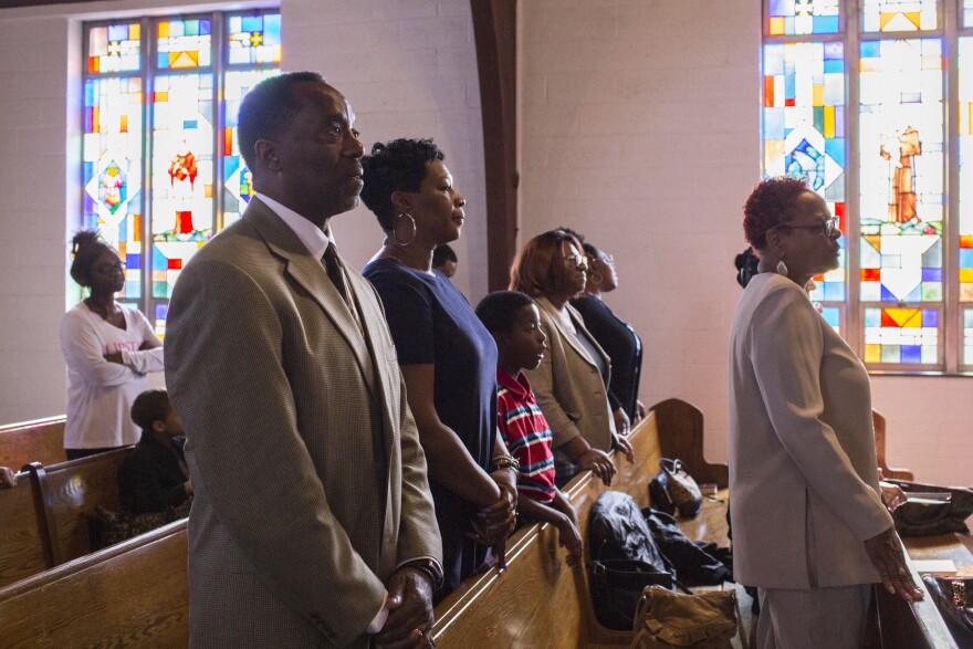
M 30 479 L 0 490 L 0 587 L 50 567 Z

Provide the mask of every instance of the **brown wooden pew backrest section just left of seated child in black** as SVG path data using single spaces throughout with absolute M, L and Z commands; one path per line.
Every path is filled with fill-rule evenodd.
M 41 528 L 51 565 L 92 551 L 87 514 L 96 505 L 118 510 L 118 468 L 132 447 L 60 462 L 29 467 L 34 498 L 43 511 Z

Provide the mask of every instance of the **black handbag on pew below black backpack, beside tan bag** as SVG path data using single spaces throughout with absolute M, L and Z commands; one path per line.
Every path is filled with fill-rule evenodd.
M 593 561 L 589 566 L 592 604 L 603 627 L 631 629 L 639 598 L 647 586 L 672 588 L 672 575 L 630 559 Z

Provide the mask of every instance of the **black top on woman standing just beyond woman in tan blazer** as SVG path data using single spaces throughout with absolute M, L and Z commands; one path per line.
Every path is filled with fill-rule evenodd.
M 599 299 L 585 293 L 575 297 L 571 305 L 578 310 L 585 327 L 595 336 L 611 358 L 611 380 L 608 381 L 608 401 L 611 409 L 619 406 L 629 419 L 635 417 L 638 399 L 639 375 L 642 369 L 642 342 L 624 320 L 611 313 Z

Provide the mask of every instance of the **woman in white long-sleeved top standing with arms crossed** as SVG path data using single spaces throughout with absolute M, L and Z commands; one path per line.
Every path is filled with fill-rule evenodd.
M 69 460 L 138 441 L 129 409 L 145 389 L 145 375 L 163 371 L 163 344 L 142 312 L 115 302 L 125 265 L 97 232 L 73 240 L 71 276 L 91 294 L 64 315 L 61 350 L 67 363 Z

